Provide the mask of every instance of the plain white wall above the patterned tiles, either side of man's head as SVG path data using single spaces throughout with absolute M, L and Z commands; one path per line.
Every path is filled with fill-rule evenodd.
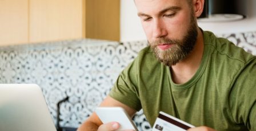
M 216 34 L 256 31 L 256 1 L 243 1 L 246 5 L 248 17 L 241 21 L 206 23 L 199 22 L 203 30 L 213 31 Z M 121 0 L 121 42 L 135 40 L 146 40 L 146 36 L 141 27 L 141 22 L 137 16 L 137 9 L 133 0 Z

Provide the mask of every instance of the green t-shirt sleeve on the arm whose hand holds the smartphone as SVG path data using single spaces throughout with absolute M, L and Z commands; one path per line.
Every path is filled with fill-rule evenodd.
M 129 64 L 118 76 L 114 87 L 111 89 L 109 96 L 121 103 L 139 111 L 141 102 L 138 94 L 138 75 L 137 75 L 137 59 Z

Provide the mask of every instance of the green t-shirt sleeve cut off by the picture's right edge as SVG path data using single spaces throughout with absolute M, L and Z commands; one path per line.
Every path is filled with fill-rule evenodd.
M 246 64 L 230 92 L 230 110 L 237 124 L 256 130 L 256 59 Z

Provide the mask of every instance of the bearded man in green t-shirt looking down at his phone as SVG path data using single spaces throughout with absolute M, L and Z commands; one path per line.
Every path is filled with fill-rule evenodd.
M 256 130 L 256 58 L 202 31 L 204 0 L 135 0 L 150 47 L 119 75 L 101 107 L 143 109 L 153 126 L 159 111 L 189 130 Z M 116 130 L 93 113 L 78 130 Z

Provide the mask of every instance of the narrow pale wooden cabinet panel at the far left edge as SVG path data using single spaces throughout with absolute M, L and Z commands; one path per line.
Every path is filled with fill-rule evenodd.
M 0 0 L 0 45 L 27 43 L 28 0 Z

